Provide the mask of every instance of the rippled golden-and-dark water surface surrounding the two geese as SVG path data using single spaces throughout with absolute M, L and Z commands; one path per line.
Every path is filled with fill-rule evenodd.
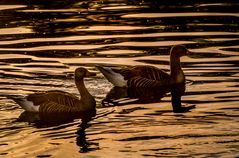
M 155 0 L 2 0 L 0 2 L 0 157 L 239 156 L 239 3 Z M 169 49 L 183 44 L 183 106 L 171 94 L 154 102 L 102 107 L 113 88 L 95 64 L 154 65 L 169 70 Z M 76 67 L 97 115 L 56 125 L 17 121 L 8 95 L 64 90 L 78 95 Z M 112 92 L 113 90 L 111 90 Z M 119 95 L 120 91 L 116 93 Z M 115 96 L 115 95 L 114 95 Z M 123 101 L 124 100 L 119 100 Z

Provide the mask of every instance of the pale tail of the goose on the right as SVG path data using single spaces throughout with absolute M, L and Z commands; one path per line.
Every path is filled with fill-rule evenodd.
M 96 68 L 105 76 L 105 78 L 116 87 L 126 87 L 127 80 L 120 73 L 115 72 L 109 67 L 97 65 Z

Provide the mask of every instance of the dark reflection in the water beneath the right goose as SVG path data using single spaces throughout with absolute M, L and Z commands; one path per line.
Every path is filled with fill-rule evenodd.
M 143 87 L 113 87 L 102 100 L 103 107 L 121 106 L 132 103 L 147 104 L 160 102 L 171 92 L 172 109 L 175 113 L 188 112 L 195 108 L 195 105 L 182 106 L 181 97 L 185 93 L 185 83 L 174 84 L 172 86 L 160 86 L 155 88 Z

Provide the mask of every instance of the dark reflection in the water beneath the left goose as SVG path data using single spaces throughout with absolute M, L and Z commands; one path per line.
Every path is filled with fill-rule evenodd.
M 78 125 L 76 130 L 76 145 L 79 146 L 79 152 L 88 152 L 98 149 L 98 143 L 88 142 L 86 140 L 86 128 L 90 127 L 89 122 L 92 121 L 96 116 L 96 110 L 88 111 L 87 113 L 34 113 L 24 111 L 21 113 L 17 122 L 28 122 L 29 124 L 40 128 L 42 130 L 49 127 L 65 128 L 72 125 Z M 100 117 L 100 116 L 98 116 Z M 81 122 L 75 121 L 81 119 Z M 56 131 L 57 132 L 57 131 Z M 50 135 L 49 135 L 50 136 Z M 92 147 L 93 146 L 93 147 Z

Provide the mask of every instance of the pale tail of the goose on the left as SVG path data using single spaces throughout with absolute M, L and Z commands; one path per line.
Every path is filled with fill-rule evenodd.
M 8 96 L 7 98 L 14 100 L 26 111 L 39 112 L 40 105 L 34 105 L 32 101 L 27 100 L 24 96 Z

